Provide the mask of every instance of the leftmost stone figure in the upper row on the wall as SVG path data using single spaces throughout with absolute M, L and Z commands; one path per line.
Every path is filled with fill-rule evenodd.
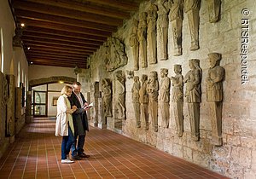
M 132 58 L 133 58 L 133 64 L 134 64 L 133 70 L 135 70 L 135 71 L 137 71 L 139 69 L 137 25 L 138 25 L 138 21 L 136 19 L 132 19 L 129 43 L 131 46 Z

